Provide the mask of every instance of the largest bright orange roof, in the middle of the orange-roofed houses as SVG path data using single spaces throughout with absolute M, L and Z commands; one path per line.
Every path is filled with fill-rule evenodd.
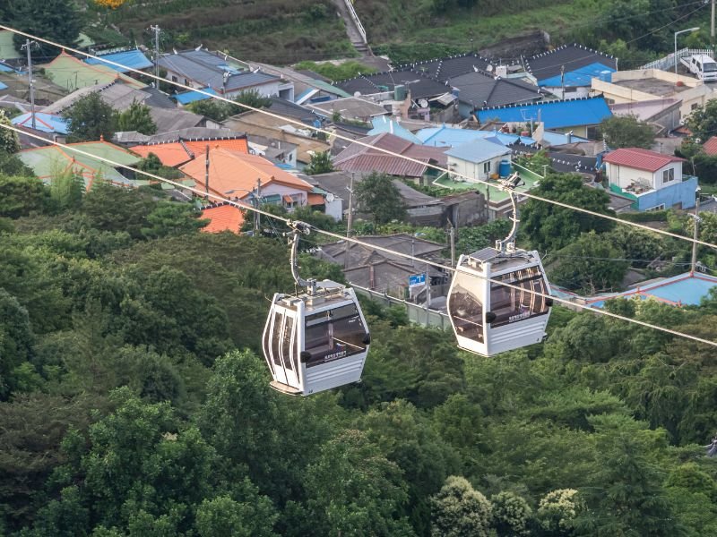
M 190 160 L 179 169 L 194 179 L 197 188 L 205 187 L 206 167 L 203 158 Z M 280 183 L 304 192 L 310 192 L 313 188 L 306 181 L 274 166 L 265 158 L 228 149 L 210 148 L 209 190 L 213 193 L 242 199 L 255 189 L 257 179 L 261 179 L 263 185 Z

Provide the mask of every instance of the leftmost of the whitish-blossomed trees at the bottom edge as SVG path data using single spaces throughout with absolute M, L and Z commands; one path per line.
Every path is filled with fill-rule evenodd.
M 468 480 L 451 475 L 431 499 L 434 537 L 475 535 L 488 537 L 491 524 L 490 502 Z

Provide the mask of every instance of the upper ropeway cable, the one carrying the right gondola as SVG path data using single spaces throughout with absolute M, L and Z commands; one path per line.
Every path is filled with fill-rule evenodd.
M 273 112 L 271 112 L 271 111 L 269 111 L 269 110 L 265 110 L 265 109 L 263 109 L 263 108 L 252 107 L 252 106 L 247 105 L 247 104 L 245 104 L 245 103 L 238 103 L 237 101 L 233 101 L 233 100 L 231 100 L 231 99 L 229 99 L 229 98 L 221 97 L 221 96 L 219 96 L 219 95 L 215 95 L 215 94 L 209 93 L 208 91 L 205 91 L 205 90 L 202 90 L 202 89 L 196 89 L 196 88 L 193 88 L 193 87 L 191 87 L 191 86 L 189 86 L 189 85 L 187 85 L 187 84 L 182 84 L 182 83 L 180 83 L 180 82 L 178 82 L 178 81 L 177 81 L 177 82 L 176 82 L 176 81 L 169 81 L 168 79 L 163 79 L 163 78 L 160 78 L 160 77 L 155 77 L 153 74 L 140 71 L 139 69 L 135 69 L 134 67 L 130 67 L 130 66 L 123 65 L 123 64 L 118 64 L 117 62 L 113 62 L 112 60 L 108 60 L 107 58 L 103 58 L 103 57 L 98 56 L 98 55 L 92 55 L 92 54 L 90 54 L 90 53 L 83 52 L 82 50 L 78 50 L 78 49 L 76 49 L 76 48 L 65 47 L 65 46 L 63 46 L 63 45 L 60 45 L 60 44 L 54 42 L 54 41 L 50 41 L 49 39 L 46 39 L 46 38 L 40 38 L 40 37 L 34 36 L 34 35 L 30 34 L 30 33 L 27 33 L 27 32 L 21 31 L 21 30 L 16 30 L 16 29 L 13 29 L 13 28 L 11 28 L 11 27 L 4 26 L 4 25 L 2 25 L 2 24 L 0 24 L 0 30 L 8 30 L 8 31 L 11 31 L 11 32 L 16 33 L 16 34 L 18 34 L 18 35 L 22 35 L 22 36 L 24 36 L 24 37 L 26 37 L 26 38 L 36 39 L 36 40 L 38 40 L 38 41 L 40 41 L 40 42 L 42 42 L 42 43 L 46 43 L 46 44 L 51 45 L 51 46 L 53 46 L 53 47 L 60 47 L 60 48 L 63 48 L 63 49 L 65 49 L 65 50 L 69 50 L 69 51 L 71 51 L 71 52 L 73 52 L 73 53 L 75 53 L 75 54 L 84 55 L 84 56 L 87 56 L 87 57 L 90 57 L 90 58 L 97 59 L 97 60 L 99 60 L 100 62 L 103 62 L 103 63 L 105 63 L 105 64 L 115 65 L 116 67 L 122 67 L 123 69 L 125 69 L 125 70 L 128 71 L 128 72 L 136 72 L 137 74 L 141 74 L 141 75 L 143 75 L 143 76 L 145 76 L 145 77 L 148 77 L 148 78 L 151 78 L 151 79 L 155 79 L 155 80 L 157 80 L 157 81 L 167 82 L 167 83 L 169 83 L 169 84 L 172 84 L 172 85 L 177 86 L 177 87 L 179 87 L 179 88 L 182 88 L 182 89 L 184 89 L 184 90 L 194 91 L 194 92 L 199 93 L 199 94 L 201 94 L 201 95 L 204 95 L 204 96 L 206 96 L 206 97 L 208 97 L 208 98 L 217 98 L 217 99 L 220 99 L 221 101 L 224 101 L 224 102 L 226 102 L 226 103 L 233 104 L 233 105 L 238 105 L 239 107 L 244 107 L 244 108 L 246 108 L 247 110 L 250 110 L 250 111 L 252 111 L 252 112 L 256 112 L 256 113 L 258 113 L 258 114 L 263 114 L 263 115 L 268 115 L 268 116 L 270 116 L 270 117 L 273 117 L 274 119 L 280 119 L 281 121 L 287 122 L 287 123 L 289 123 L 289 124 L 298 125 L 298 126 L 300 126 L 301 128 L 304 128 L 304 129 L 306 129 L 306 128 L 308 127 L 308 128 L 310 128 L 312 131 L 322 132 L 322 133 L 325 134 L 326 136 L 329 136 L 329 137 L 333 136 L 334 138 L 336 138 L 336 139 L 338 139 L 338 140 L 348 141 L 348 142 L 350 142 L 350 143 L 356 143 L 356 144 L 358 144 L 358 145 L 360 145 L 360 146 L 363 146 L 363 147 L 366 147 L 366 148 L 368 148 L 368 149 L 373 149 L 373 150 L 376 150 L 376 151 L 378 151 L 378 152 L 380 152 L 380 153 L 384 153 L 385 155 L 389 155 L 389 156 L 392 156 L 392 157 L 395 157 L 395 158 L 402 158 L 402 159 L 407 160 L 407 161 L 409 161 L 409 162 L 413 162 L 414 164 L 419 164 L 420 166 L 426 166 L 426 167 L 431 168 L 431 169 L 434 169 L 434 170 L 436 170 L 436 171 L 443 172 L 444 174 L 454 175 L 454 176 L 456 176 L 456 177 L 460 177 L 460 178 L 462 178 L 462 179 L 464 179 L 464 180 L 467 180 L 467 181 L 469 181 L 469 182 L 471 182 L 471 183 L 483 184 L 483 185 L 486 185 L 488 188 L 494 188 L 494 189 L 500 190 L 500 187 L 497 186 L 496 184 L 488 183 L 488 181 L 484 181 L 484 180 L 479 179 L 479 178 L 477 178 L 477 177 L 471 177 L 471 176 L 469 176 L 469 175 L 465 175 L 465 174 L 461 174 L 461 173 L 458 173 L 458 172 L 449 170 L 448 168 L 445 168 L 445 167 L 442 167 L 442 166 L 438 166 L 438 165 L 435 165 L 435 164 L 426 163 L 426 162 L 424 162 L 424 161 L 422 161 L 422 160 L 419 160 L 418 158 L 407 157 L 406 155 L 401 155 L 400 153 L 396 153 L 395 151 L 392 151 L 392 150 L 390 150 L 390 149 L 383 149 L 383 148 L 379 148 L 379 147 L 376 147 L 376 146 L 372 146 L 372 145 L 368 144 L 368 143 L 365 142 L 365 141 L 353 140 L 353 139 L 351 139 L 350 137 L 344 136 L 343 134 L 340 134 L 340 133 L 338 133 L 338 132 L 328 131 L 328 130 L 326 130 L 326 129 L 319 128 L 319 127 L 309 127 L 307 124 L 305 124 L 305 123 L 299 121 L 298 119 L 294 119 L 294 118 L 291 118 L 291 117 L 283 116 L 283 115 L 280 115 L 280 114 L 275 114 L 275 113 L 273 113 Z M 564 209 L 571 209 L 571 210 L 574 210 L 574 211 L 577 211 L 577 212 L 581 212 L 581 213 L 583 213 L 583 214 L 590 215 L 590 216 L 592 216 L 592 217 L 605 218 L 605 219 L 611 220 L 611 221 L 613 221 L 613 222 L 617 222 L 618 224 L 622 224 L 622 225 L 624 225 L 624 226 L 633 226 L 633 227 L 637 227 L 637 228 L 639 228 L 639 229 L 642 229 L 642 230 L 644 230 L 644 231 L 649 231 L 649 232 L 656 233 L 656 234 L 663 234 L 663 235 L 665 235 L 665 236 L 677 238 L 677 239 L 680 239 L 680 240 L 683 240 L 683 241 L 687 241 L 687 242 L 690 242 L 690 243 L 702 244 L 703 246 L 709 246 L 710 248 L 714 248 L 715 250 L 717 250 L 717 244 L 706 243 L 706 242 L 704 242 L 704 241 L 700 241 L 700 240 L 697 240 L 697 239 L 692 239 L 692 238 L 689 238 L 689 237 L 685 237 L 685 236 L 683 236 L 683 235 L 679 235 L 679 234 L 675 234 L 675 233 L 670 233 L 669 231 L 665 231 L 665 230 L 662 230 L 662 229 L 652 229 L 652 227 L 650 227 L 650 226 L 645 226 L 644 224 L 639 224 L 639 223 L 637 223 L 637 222 L 628 222 L 628 221 L 623 220 L 623 219 L 618 218 L 618 217 L 612 217 L 612 216 L 610 216 L 610 215 L 606 215 L 606 214 L 603 214 L 603 213 L 600 213 L 600 212 L 597 212 L 597 211 L 593 211 L 593 210 L 590 210 L 590 209 L 583 209 L 582 207 L 576 207 L 576 206 L 574 206 L 574 205 L 570 205 L 570 204 L 564 203 L 564 202 L 562 202 L 562 201 L 550 200 L 549 198 L 544 198 L 544 197 L 542 197 L 542 196 L 538 196 L 537 194 L 531 194 L 530 192 L 520 192 L 520 196 L 522 196 L 523 198 L 531 199 L 531 200 L 538 200 L 538 201 L 543 201 L 543 202 L 545 202 L 545 203 L 550 203 L 550 204 L 556 205 L 557 207 L 562 207 L 562 208 L 564 208 Z

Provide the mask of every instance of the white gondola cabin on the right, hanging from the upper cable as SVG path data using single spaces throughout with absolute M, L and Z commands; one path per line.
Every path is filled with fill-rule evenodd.
M 448 293 L 458 346 L 493 356 L 540 343 L 552 305 L 540 294 L 550 294 L 550 287 L 538 252 L 485 248 L 462 255 Z

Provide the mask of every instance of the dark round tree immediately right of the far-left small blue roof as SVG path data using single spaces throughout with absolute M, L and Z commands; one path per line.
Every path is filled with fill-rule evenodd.
M 62 115 L 67 120 L 67 141 L 109 140 L 117 131 L 115 110 L 96 91 L 78 98 Z

